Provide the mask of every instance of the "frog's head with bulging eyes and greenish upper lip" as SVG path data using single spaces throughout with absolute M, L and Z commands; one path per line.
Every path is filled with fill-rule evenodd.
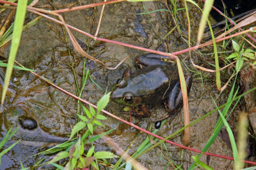
M 112 88 L 110 99 L 123 106 L 138 106 L 142 102 L 142 97 L 136 96 L 132 91 L 127 85 L 127 80 L 119 80 Z

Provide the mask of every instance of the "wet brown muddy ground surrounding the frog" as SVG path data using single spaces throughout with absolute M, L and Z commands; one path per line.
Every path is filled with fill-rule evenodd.
M 84 1 L 83 3 L 89 4 L 92 2 Z M 46 2 L 43 2 L 42 4 L 38 4 L 38 6 L 45 6 L 46 4 Z M 56 2 L 56 6 L 61 6 L 61 4 L 65 4 L 65 2 Z M 179 7 L 182 8 L 183 6 L 179 5 Z M 192 8 L 192 6 L 189 7 Z M 97 28 L 100 9 L 101 7 L 65 13 L 65 20 L 68 24 L 93 34 Z M 159 9 L 165 9 L 164 5 L 160 2 L 109 4 L 106 6 L 102 17 L 99 35 L 102 38 L 113 39 L 115 41 L 164 52 L 175 52 L 188 48 L 186 41 L 184 41 L 177 31 L 172 32 L 168 38 L 162 41 L 164 36 L 174 27 L 172 17 L 168 13 L 155 12 L 147 15 L 136 15 L 136 13 Z M 200 13 L 195 10 L 191 10 L 190 12 L 191 16 L 195 18 L 192 29 L 196 35 L 198 26 L 198 19 L 196 18 L 200 17 Z M 28 17 L 33 18 L 35 16 L 29 14 Z M 179 13 L 179 18 L 183 24 L 180 25 L 180 29 L 186 35 L 186 19 L 182 11 Z M 110 89 L 113 82 L 122 76 L 122 72 L 126 67 L 130 66 L 134 71 L 136 69 L 133 62 L 134 57 L 145 53 L 123 46 L 92 41 L 92 39 L 86 38 L 77 32 L 73 33 L 80 40 L 81 46 L 83 48 L 85 47 L 90 55 L 104 61 L 108 66 L 115 66 L 120 60 L 131 54 L 131 57 L 114 71 L 106 70 L 93 61 L 86 61 L 86 69 L 92 71 L 93 80 L 104 90 Z M 68 56 L 68 50 L 70 56 Z M 192 54 L 196 62 L 201 62 L 201 57 L 198 56 L 198 53 Z M 4 55 L 8 56 L 8 49 L 6 49 Z M 187 57 L 187 54 L 180 55 L 182 59 L 185 57 Z M 65 36 L 62 33 L 60 25 L 53 24 L 45 19 L 40 20 L 37 25 L 22 34 L 17 60 L 21 64 L 24 64 L 24 66 L 35 69 L 36 73 L 40 74 L 40 76 L 44 76 L 72 94 L 76 94 L 74 73 L 76 74 L 79 86 L 81 84 L 84 57 L 74 51 L 69 41 L 65 43 Z M 188 60 L 185 60 L 185 62 L 190 68 L 193 68 Z M 185 67 L 184 71 L 186 74 L 191 74 Z M 209 79 L 214 80 L 213 75 L 208 74 L 207 76 Z M 214 104 L 212 104 L 211 96 L 218 96 L 218 91 L 214 90 L 213 81 L 205 81 L 202 87 L 202 82 L 196 80 L 196 78 L 198 77 L 194 77 L 195 81 L 189 94 L 191 121 L 213 110 Z M 95 104 L 104 94 L 104 90 L 100 90 L 92 81 L 88 80 L 82 97 L 90 103 Z M 12 86 L 8 92 L 9 94 L 1 113 L 2 135 L 11 126 L 19 126 L 20 118 L 35 120 L 37 127 L 32 130 L 20 127 L 13 141 L 21 139 L 22 142 L 15 146 L 15 151 L 6 154 L 2 158 L 2 162 L 8 163 L 1 164 L 1 169 L 20 167 L 19 159 L 22 160 L 25 166 L 32 166 L 39 158 L 32 157 L 29 160 L 26 158 L 38 152 L 38 146 L 45 145 L 45 143 L 61 143 L 67 139 L 71 127 L 77 121 L 77 101 L 61 93 L 59 90 L 53 89 L 44 81 L 25 71 L 14 71 Z M 222 96 L 221 98 L 225 99 Z M 128 117 L 119 114 L 122 107 L 115 103 L 109 103 L 106 110 L 128 120 Z M 152 123 L 152 120 L 156 120 L 156 118 L 160 118 L 166 113 L 163 106 L 154 108 L 151 111 L 153 113 L 151 118 L 132 118 L 132 122 L 147 129 Z M 207 139 L 209 139 L 209 136 L 211 136 L 212 129 L 217 120 L 218 114 L 214 113 L 205 118 L 204 121 L 193 125 L 191 127 L 191 143 L 189 146 L 201 150 Z M 168 136 L 180 129 L 182 122 L 181 111 L 181 114 L 172 121 L 172 124 L 169 125 L 167 123 L 157 134 Z M 132 148 L 129 151 L 131 154 L 136 151 L 138 146 L 147 137 L 145 134 L 111 117 L 108 117 L 108 121 L 102 123 L 105 125 L 102 128 L 103 131 L 115 129 L 109 136 L 121 148 L 126 150 L 132 143 Z M 172 140 L 182 143 L 182 136 L 177 136 L 177 138 Z M 11 145 L 13 141 L 6 146 Z M 97 150 L 111 150 L 103 140 L 99 140 L 95 144 Z M 232 156 L 230 149 L 220 138 L 216 139 L 209 152 Z M 20 157 L 20 155 L 25 155 L 26 158 Z M 163 169 L 168 162 L 164 158 L 160 158 L 159 155 L 161 155 L 161 150 L 156 148 L 141 156 L 138 160 L 141 164 L 148 167 L 148 169 L 152 169 L 152 167 L 154 169 Z M 183 164 L 183 168 L 187 169 L 193 161 L 191 160 L 191 155 L 196 155 L 196 153 L 189 151 L 170 151 L 170 155 L 177 164 Z M 202 161 L 207 162 L 205 156 L 202 157 Z M 209 166 L 214 169 L 229 169 L 232 167 L 232 162 L 212 157 L 209 160 Z

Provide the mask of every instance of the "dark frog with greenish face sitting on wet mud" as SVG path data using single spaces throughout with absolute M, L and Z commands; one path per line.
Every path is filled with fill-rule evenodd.
M 155 53 L 146 53 L 136 57 L 140 67 L 132 73 L 127 68 L 121 79 L 111 88 L 110 99 L 122 106 L 129 106 L 129 111 L 122 112 L 132 117 L 148 118 L 150 108 L 164 103 L 168 112 L 162 118 L 155 120 L 155 126 L 171 115 L 177 115 L 182 107 L 182 92 L 180 89 L 177 67 L 170 62 L 170 57 Z M 191 89 L 193 78 L 186 77 L 187 92 Z M 174 117 L 174 116 L 173 116 Z

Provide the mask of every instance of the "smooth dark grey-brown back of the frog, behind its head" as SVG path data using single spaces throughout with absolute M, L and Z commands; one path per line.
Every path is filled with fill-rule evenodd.
M 127 88 L 135 96 L 141 96 L 143 103 L 155 106 L 166 99 L 164 94 L 172 89 L 174 82 L 177 82 L 177 76 L 170 67 L 154 65 L 143 67 L 127 77 Z

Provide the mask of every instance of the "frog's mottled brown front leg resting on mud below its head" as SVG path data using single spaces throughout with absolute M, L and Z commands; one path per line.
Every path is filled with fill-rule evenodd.
M 150 111 L 144 104 L 139 106 L 138 108 L 130 108 L 129 111 L 122 112 L 122 114 L 131 115 L 132 117 L 137 118 L 148 118 L 151 116 Z

